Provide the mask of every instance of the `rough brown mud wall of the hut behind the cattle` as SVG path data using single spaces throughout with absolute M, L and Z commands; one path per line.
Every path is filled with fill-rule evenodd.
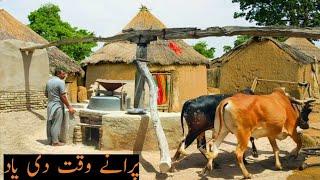
M 234 54 L 228 62 L 223 64 L 219 87 L 222 93 L 235 93 L 245 87 L 251 87 L 255 77 L 300 81 L 306 75 L 301 73 L 303 68 L 271 41 L 255 42 Z M 256 92 L 270 93 L 273 88 L 279 86 L 286 87 L 289 93 L 296 97 L 301 95 L 296 85 L 271 82 L 259 82 Z

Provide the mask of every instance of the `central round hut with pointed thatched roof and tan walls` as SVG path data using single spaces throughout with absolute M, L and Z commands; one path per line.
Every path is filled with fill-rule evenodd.
M 146 7 L 142 7 L 123 30 L 163 28 L 166 26 Z M 128 41 L 105 44 L 87 58 L 83 62 L 87 66 L 87 88 L 96 79 L 134 80 L 136 68 L 132 61 L 136 56 L 136 48 L 136 44 Z M 172 90 L 168 92 L 170 96 L 168 99 L 171 99 L 171 104 L 167 105 L 169 111 L 179 111 L 182 103 L 187 99 L 207 93 L 206 64 L 208 64 L 208 59 L 183 40 L 151 42 L 148 45 L 147 60 L 150 61 L 148 66 L 152 73 L 171 74 L 171 78 L 175 79 L 172 84 L 174 92 Z M 133 98 L 133 93 L 131 96 Z

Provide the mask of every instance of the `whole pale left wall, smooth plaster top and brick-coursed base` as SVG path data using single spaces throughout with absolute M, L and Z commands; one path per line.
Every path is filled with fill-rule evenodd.
M 48 54 L 43 49 L 33 53 L 19 50 L 32 45 L 19 40 L 0 41 L 0 112 L 45 108 Z

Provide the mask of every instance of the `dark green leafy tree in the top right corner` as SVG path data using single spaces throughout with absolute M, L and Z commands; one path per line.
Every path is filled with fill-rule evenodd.
M 290 25 L 317 27 L 320 25 L 319 0 L 232 0 L 239 3 L 240 12 L 234 18 L 245 17 L 257 25 Z

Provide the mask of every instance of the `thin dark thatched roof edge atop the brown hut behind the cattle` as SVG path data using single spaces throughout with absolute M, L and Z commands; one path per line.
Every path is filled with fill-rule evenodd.
M 310 64 L 312 62 L 314 62 L 314 59 L 308 55 L 306 55 L 305 53 L 297 50 L 296 48 L 293 48 L 285 43 L 281 43 L 273 38 L 270 37 L 253 37 L 250 40 L 248 40 L 247 42 L 233 48 L 232 50 L 230 50 L 229 52 L 227 52 L 226 54 L 224 54 L 223 56 L 221 56 L 220 58 L 216 58 L 214 59 L 211 63 L 210 63 L 210 67 L 216 67 L 216 66 L 221 66 L 224 63 L 228 62 L 231 57 L 236 56 L 239 52 L 241 52 L 243 49 L 245 49 L 247 46 L 249 46 L 251 43 L 253 42 L 261 42 L 261 41 L 271 41 L 273 42 L 275 45 L 277 45 L 281 50 L 283 50 L 284 52 L 288 53 L 296 62 L 298 62 L 299 64 Z

